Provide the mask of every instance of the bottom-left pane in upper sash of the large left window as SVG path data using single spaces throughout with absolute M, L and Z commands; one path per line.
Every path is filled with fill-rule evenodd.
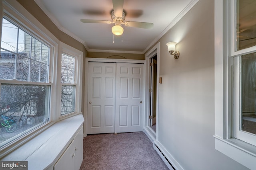
M 0 79 L 14 79 L 16 67 L 16 55 L 1 49 Z

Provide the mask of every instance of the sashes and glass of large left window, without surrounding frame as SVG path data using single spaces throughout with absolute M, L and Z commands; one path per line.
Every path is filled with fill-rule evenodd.
M 50 121 L 50 47 L 2 19 L 0 147 Z

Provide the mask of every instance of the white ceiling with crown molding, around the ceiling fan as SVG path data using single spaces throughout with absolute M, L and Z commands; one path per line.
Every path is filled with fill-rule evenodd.
M 80 21 L 112 21 L 112 0 L 34 1 L 60 30 L 83 43 L 87 51 L 142 54 L 199 0 L 124 0 L 125 21 L 152 22 L 154 27 L 142 29 L 123 26 L 123 35 L 115 35 L 114 43 L 111 31 L 114 24 Z

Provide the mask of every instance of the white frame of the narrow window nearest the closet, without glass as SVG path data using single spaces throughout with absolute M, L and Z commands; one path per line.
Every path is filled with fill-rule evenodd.
M 60 46 L 59 46 L 59 55 L 58 55 L 58 82 L 60 82 L 60 76 L 61 76 L 61 59 L 62 59 L 62 53 L 65 55 L 69 55 L 71 57 L 75 58 L 75 62 L 74 62 L 74 84 L 67 84 L 67 83 L 59 83 L 58 84 L 58 98 L 59 101 L 61 101 L 61 88 L 62 85 L 75 85 L 76 86 L 76 90 L 75 90 L 75 102 L 74 102 L 74 112 L 71 113 L 67 113 L 64 115 L 60 115 L 60 107 L 61 107 L 61 103 L 58 103 L 58 119 L 64 119 L 66 117 L 70 117 L 73 115 L 77 115 L 82 113 L 82 105 L 81 105 L 81 101 L 82 100 L 82 64 L 83 64 L 83 52 L 79 51 L 65 43 L 60 42 Z M 78 101 L 78 102 L 77 102 Z

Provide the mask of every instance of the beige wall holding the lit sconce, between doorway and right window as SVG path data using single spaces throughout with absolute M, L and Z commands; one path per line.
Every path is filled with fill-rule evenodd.
M 158 141 L 184 170 L 246 170 L 214 148 L 214 0 L 200 0 L 159 42 Z

